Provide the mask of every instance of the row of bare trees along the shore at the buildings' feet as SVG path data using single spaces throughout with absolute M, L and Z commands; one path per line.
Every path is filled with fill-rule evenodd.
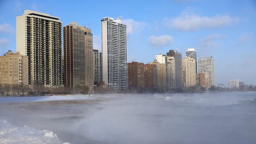
M 104 84 L 95 85 L 94 94 L 144 94 L 144 93 L 168 93 L 167 91 L 157 88 L 128 88 L 123 90 L 111 90 Z M 191 86 L 184 88 L 186 93 L 200 92 L 250 92 L 256 91 L 256 86 L 246 85 L 239 88 L 228 88 L 224 86 L 211 86 L 204 88 L 200 86 Z M 172 91 L 172 92 L 175 92 Z M 44 96 L 54 94 L 90 94 L 90 90 L 86 86 L 64 87 L 64 86 L 44 86 L 44 85 L 16 85 L 16 84 L 0 84 L 0 95 L 2 96 Z

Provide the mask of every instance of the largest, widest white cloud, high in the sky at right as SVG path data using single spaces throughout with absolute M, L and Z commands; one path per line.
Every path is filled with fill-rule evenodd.
M 238 22 L 239 18 L 231 18 L 228 14 L 212 17 L 200 16 L 190 12 L 190 8 L 184 10 L 181 16 L 174 19 L 165 19 L 164 22 L 178 30 L 198 30 L 201 28 L 218 28 Z

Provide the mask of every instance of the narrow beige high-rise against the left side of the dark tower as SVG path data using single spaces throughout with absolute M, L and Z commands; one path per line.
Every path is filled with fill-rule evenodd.
M 168 91 L 175 91 L 175 59 L 172 56 L 167 56 L 167 80 Z

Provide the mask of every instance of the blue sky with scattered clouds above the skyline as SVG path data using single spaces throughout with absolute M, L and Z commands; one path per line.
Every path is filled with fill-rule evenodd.
M 0 0 L 0 54 L 16 52 L 16 16 L 36 10 L 92 29 L 100 49 L 100 20 L 128 26 L 128 62 L 148 63 L 170 49 L 213 56 L 215 84 L 239 78 L 256 84 L 256 0 Z

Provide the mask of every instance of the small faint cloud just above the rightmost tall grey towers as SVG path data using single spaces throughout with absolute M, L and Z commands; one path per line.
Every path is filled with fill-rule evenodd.
M 220 45 L 218 42 L 214 42 L 216 38 L 219 38 L 219 34 L 211 34 L 201 39 L 200 45 L 204 48 L 216 48 Z

